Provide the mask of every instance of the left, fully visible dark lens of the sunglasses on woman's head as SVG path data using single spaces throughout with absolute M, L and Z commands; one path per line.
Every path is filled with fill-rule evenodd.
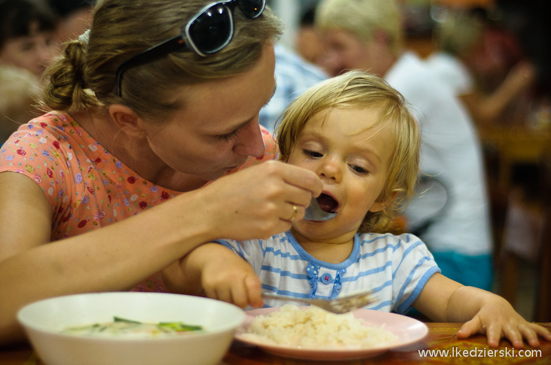
M 214 5 L 189 25 L 189 37 L 198 51 L 211 54 L 219 51 L 231 40 L 233 24 L 229 9 Z

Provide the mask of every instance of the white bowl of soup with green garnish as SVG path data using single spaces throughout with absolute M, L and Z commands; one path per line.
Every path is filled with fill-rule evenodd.
M 114 316 L 141 322 L 181 321 L 205 331 L 163 338 L 61 333 L 67 327 L 111 322 Z M 196 296 L 116 292 L 40 300 L 23 307 L 17 319 L 48 365 L 207 365 L 222 360 L 245 313 L 235 305 Z

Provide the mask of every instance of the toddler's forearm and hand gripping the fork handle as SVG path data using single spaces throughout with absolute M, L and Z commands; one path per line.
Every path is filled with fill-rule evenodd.
M 261 283 L 253 267 L 229 248 L 205 243 L 167 268 L 165 285 L 180 293 L 203 291 L 238 307 L 262 307 Z

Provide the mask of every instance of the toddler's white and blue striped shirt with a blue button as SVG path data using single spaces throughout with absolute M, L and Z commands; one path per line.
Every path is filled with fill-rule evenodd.
M 406 313 L 430 276 L 440 272 L 433 255 L 413 234 L 356 234 L 349 258 L 325 263 L 308 254 L 291 232 L 266 240 L 218 243 L 245 258 L 262 289 L 295 298 L 336 298 L 371 289 L 377 302 L 366 309 Z M 266 307 L 280 307 L 264 300 Z

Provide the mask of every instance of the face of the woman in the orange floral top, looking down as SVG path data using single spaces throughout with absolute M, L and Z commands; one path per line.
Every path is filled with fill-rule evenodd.
M 145 126 L 152 151 L 174 170 L 207 180 L 262 157 L 258 112 L 273 95 L 274 67 L 273 45 L 266 45 L 249 71 L 185 87 L 183 110 Z

